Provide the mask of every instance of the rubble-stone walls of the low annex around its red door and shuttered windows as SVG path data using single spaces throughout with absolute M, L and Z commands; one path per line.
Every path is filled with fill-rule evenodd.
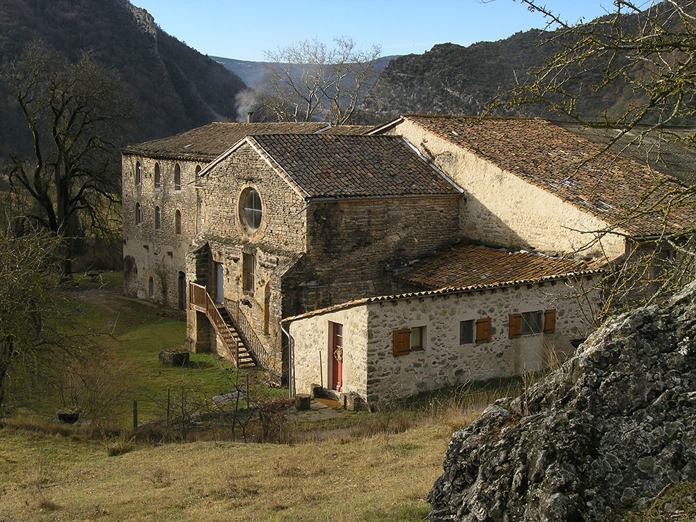
M 592 329 L 592 278 L 428 296 L 365 300 L 290 320 L 297 393 L 331 379 L 329 325 L 343 325 L 343 392 L 390 400 L 473 380 L 509 377 L 564 361 Z M 510 338 L 509 316 L 555 310 L 553 333 Z M 460 323 L 491 319 L 491 340 L 460 345 Z M 394 331 L 422 327 L 423 349 L 394 355 Z M 321 354 L 321 355 L 320 355 Z M 320 365 L 321 363 L 321 365 Z M 323 365 L 323 367 L 322 367 Z M 323 380 L 322 380 L 323 379 Z

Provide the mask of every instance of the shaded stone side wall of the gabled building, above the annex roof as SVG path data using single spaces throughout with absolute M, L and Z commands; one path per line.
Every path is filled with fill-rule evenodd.
M 462 204 L 459 196 L 311 203 L 307 254 L 286 275 L 283 315 L 400 292 L 393 268 L 457 242 Z

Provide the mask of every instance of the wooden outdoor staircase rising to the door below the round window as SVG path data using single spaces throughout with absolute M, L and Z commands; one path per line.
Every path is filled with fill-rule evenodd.
M 213 301 L 205 286 L 189 283 L 189 306 L 205 313 L 235 366 L 238 368 L 261 367 L 258 355 L 251 349 L 246 335 L 239 329 L 235 319 L 225 306 Z

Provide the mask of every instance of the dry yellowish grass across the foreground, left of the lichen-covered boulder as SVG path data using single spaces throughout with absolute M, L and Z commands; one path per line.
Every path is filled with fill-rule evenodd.
M 10 520 L 419 521 L 450 433 L 431 423 L 343 443 L 198 442 L 108 457 L 98 443 L 6 428 L 0 513 Z M 50 496 L 38 499 L 37 484 Z

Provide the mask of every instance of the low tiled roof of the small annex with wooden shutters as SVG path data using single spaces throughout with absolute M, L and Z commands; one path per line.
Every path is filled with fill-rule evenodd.
M 582 274 L 588 270 L 592 268 L 584 261 L 464 245 L 413 264 L 397 279 L 422 290 L 435 290 L 476 285 L 517 285 L 566 274 Z

